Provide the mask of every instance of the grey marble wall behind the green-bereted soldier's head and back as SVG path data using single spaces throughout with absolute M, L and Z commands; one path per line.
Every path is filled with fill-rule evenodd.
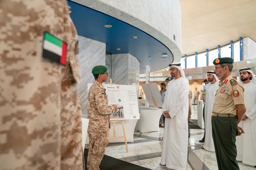
M 77 86 L 77 96 L 83 116 L 87 115 L 88 90 L 87 83 L 93 83 L 92 68 L 96 65 L 105 65 L 106 44 L 89 38 L 78 36 L 79 62 L 82 71 L 82 82 Z

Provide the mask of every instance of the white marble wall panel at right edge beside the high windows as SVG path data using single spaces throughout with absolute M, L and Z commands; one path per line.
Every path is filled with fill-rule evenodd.
M 256 42 L 249 37 L 243 38 L 243 60 L 256 58 Z

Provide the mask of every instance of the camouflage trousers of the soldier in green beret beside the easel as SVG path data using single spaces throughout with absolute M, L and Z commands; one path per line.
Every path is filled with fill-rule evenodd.
M 87 156 L 87 168 L 90 170 L 99 170 L 100 162 L 104 156 L 108 132 L 88 132 L 89 151 Z

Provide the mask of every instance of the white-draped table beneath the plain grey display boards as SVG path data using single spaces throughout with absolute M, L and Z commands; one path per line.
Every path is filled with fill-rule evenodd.
M 140 119 L 138 120 L 135 129 L 143 132 L 159 131 L 159 120 L 162 114 L 162 109 L 139 106 Z

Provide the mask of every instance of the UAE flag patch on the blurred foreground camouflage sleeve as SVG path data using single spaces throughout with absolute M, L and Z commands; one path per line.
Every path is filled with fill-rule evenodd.
M 66 65 L 67 43 L 54 35 L 44 32 L 43 57 L 53 62 Z

